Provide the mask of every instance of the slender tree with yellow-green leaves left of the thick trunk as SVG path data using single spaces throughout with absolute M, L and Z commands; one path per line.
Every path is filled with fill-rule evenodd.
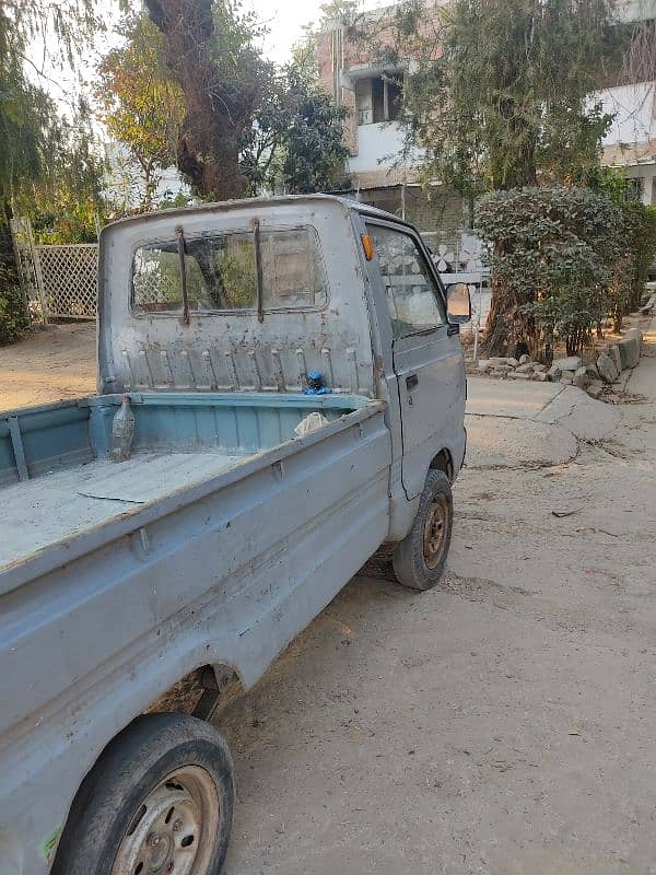
M 164 62 L 164 38 L 148 15 L 128 13 L 124 44 L 98 65 L 95 96 L 110 136 L 128 147 L 143 183 L 141 209 L 153 207 L 161 171 L 175 164 L 184 97 Z

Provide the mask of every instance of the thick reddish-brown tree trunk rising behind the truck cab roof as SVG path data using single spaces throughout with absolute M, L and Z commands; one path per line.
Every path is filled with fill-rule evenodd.
M 239 91 L 221 81 L 212 0 L 145 0 L 145 5 L 166 37 L 166 62 L 185 95 L 178 168 L 201 198 L 243 197 L 237 144 L 257 86 Z

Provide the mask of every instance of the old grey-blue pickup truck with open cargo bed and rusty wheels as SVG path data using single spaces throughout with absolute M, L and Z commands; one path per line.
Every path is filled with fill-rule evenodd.
M 442 573 L 468 290 L 304 196 L 110 224 L 98 307 L 98 394 L 0 413 L 0 874 L 218 875 L 227 680 L 385 541 L 400 583 Z

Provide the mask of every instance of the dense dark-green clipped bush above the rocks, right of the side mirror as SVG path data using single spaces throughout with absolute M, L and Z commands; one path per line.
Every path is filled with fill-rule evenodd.
M 518 188 L 484 197 L 478 226 L 492 249 L 492 352 L 526 345 L 574 354 L 626 296 L 621 209 L 587 188 Z

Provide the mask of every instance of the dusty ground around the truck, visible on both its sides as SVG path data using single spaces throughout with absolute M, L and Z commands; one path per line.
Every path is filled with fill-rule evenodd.
M 93 387 L 65 332 L 0 350 L 1 408 Z M 621 404 L 539 385 L 468 417 L 441 585 L 372 564 L 216 720 L 226 875 L 656 874 L 656 320 Z

